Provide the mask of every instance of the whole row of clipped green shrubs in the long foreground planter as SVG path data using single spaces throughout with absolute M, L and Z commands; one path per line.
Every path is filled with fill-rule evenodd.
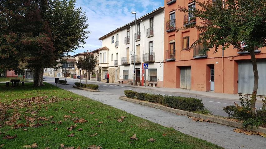
M 162 104 L 164 106 L 185 111 L 197 111 L 204 109 L 202 100 L 197 98 L 190 98 L 190 97 L 187 98 L 180 96 L 163 96 L 163 95 L 149 94 L 149 93 L 137 93 L 132 90 L 125 90 L 124 94 L 128 98 L 137 97 L 137 99 L 141 101 L 154 102 Z

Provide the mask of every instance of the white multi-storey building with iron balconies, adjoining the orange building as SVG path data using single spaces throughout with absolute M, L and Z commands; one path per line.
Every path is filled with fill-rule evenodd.
M 99 38 L 102 47 L 99 52 L 99 71 L 102 81 L 109 73 L 109 82 L 133 82 L 134 38 L 136 38 L 135 68 L 136 82 L 154 83 L 163 86 L 164 52 L 164 7 L 160 7 Z M 132 54 L 132 55 L 131 55 Z M 143 63 L 148 63 L 144 75 Z

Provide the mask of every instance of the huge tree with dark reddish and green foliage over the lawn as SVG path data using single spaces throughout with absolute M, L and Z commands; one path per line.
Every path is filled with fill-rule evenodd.
M 1 0 L 0 62 L 8 70 L 27 63 L 41 86 L 44 68 L 85 43 L 86 21 L 75 0 Z

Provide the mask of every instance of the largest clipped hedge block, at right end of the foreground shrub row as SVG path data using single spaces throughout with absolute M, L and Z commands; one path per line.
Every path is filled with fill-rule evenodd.
M 204 108 L 202 100 L 197 98 L 187 98 L 180 96 L 165 96 L 162 104 L 164 106 L 169 106 L 171 108 L 186 111 L 197 111 L 202 110 Z

